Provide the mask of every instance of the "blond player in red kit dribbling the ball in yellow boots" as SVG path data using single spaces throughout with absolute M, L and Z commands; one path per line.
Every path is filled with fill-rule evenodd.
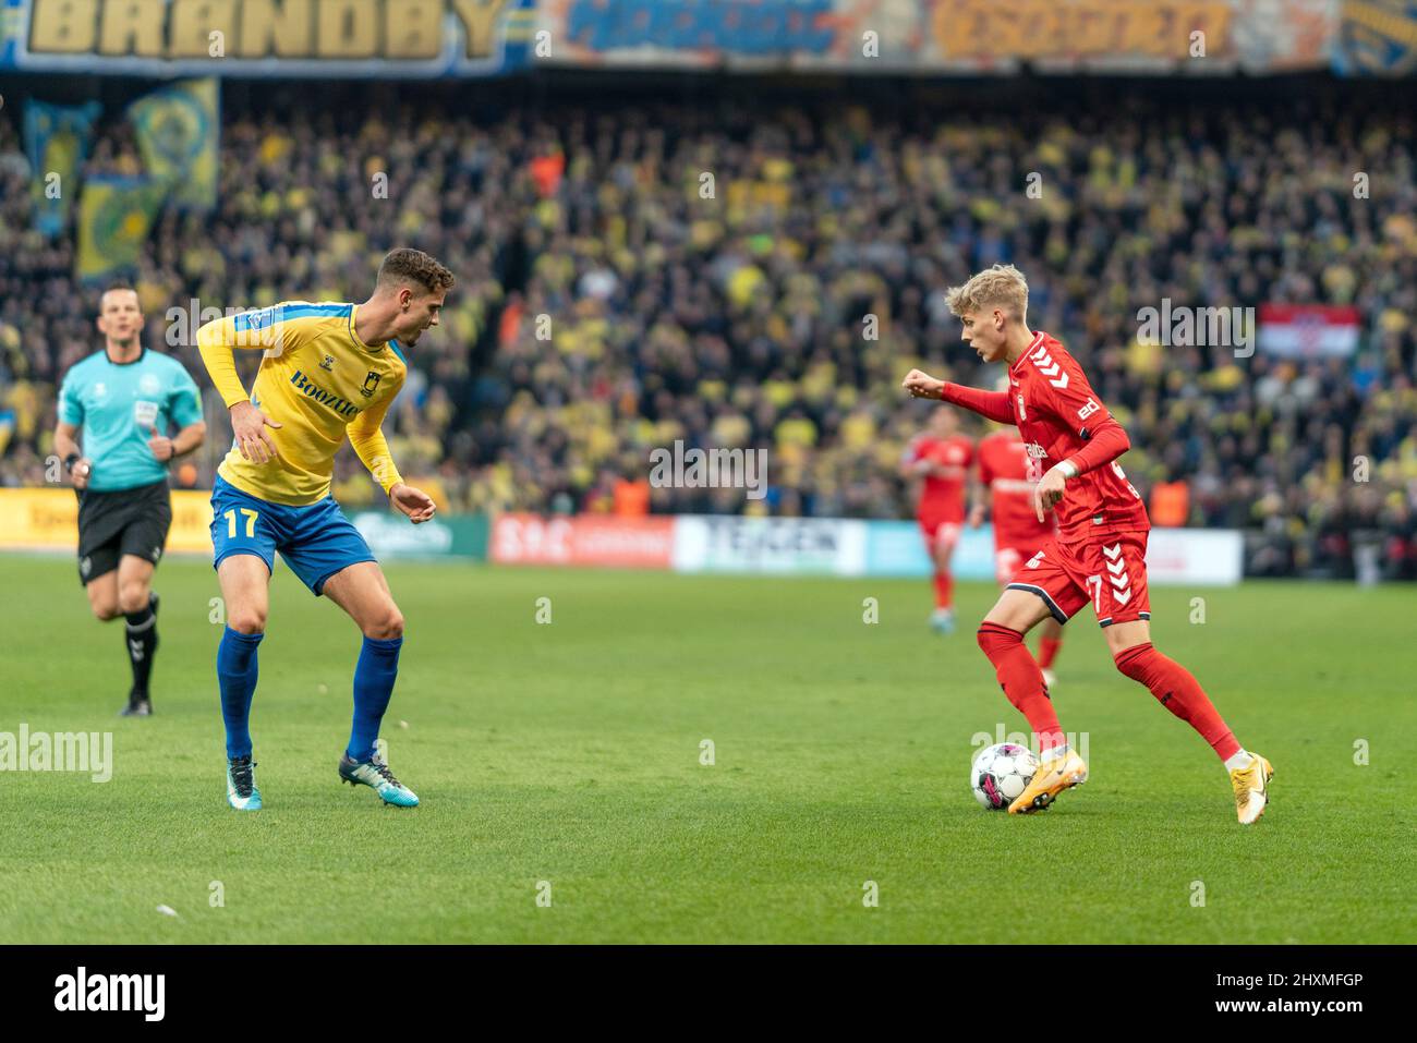
M 1047 333 L 1027 327 L 1029 286 L 1013 265 L 995 265 L 949 291 L 962 339 L 986 363 L 1009 366 L 1009 391 L 947 384 L 911 370 L 903 381 L 917 398 L 941 398 L 1000 424 L 1015 424 L 1043 478 L 1034 490 L 1041 522 L 1057 504 L 1058 531 L 1020 570 L 979 626 L 979 648 L 1005 694 L 1039 735 L 1040 765 L 1009 805 L 1010 815 L 1047 808 L 1087 781 L 1087 765 L 1058 726 L 1039 665 L 1023 635 L 1049 615 L 1060 624 L 1093 602 L 1117 669 L 1141 682 L 1216 751 L 1230 772 L 1241 823 L 1264 813 L 1274 768 L 1247 752 L 1190 672 L 1151 643 L 1146 534 L 1141 497 L 1117 465 L 1131 448 L 1077 360 Z

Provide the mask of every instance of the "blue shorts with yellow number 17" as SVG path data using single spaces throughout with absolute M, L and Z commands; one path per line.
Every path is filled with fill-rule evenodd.
M 211 489 L 211 567 L 232 554 L 255 554 L 275 570 L 275 553 L 319 597 L 341 568 L 374 561 L 359 529 L 333 496 L 307 507 L 288 507 L 244 493 L 217 476 Z

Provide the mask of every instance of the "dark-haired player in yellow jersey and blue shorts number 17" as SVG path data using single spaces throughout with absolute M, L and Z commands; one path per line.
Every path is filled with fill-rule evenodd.
M 330 496 L 330 479 L 347 435 L 398 512 L 414 524 L 434 516 L 432 499 L 400 476 L 380 425 L 408 373 L 405 350 L 438 325 L 452 283 L 452 272 L 434 258 L 395 249 L 361 305 L 286 300 L 208 323 L 197 334 L 235 434 L 211 493 L 211 543 L 227 604 L 217 649 L 227 802 L 238 811 L 261 808 L 249 720 L 276 551 L 310 592 L 327 595 L 364 635 L 340 778 L 373 788 L 385 804 L 418 805 L 377 750 L 404 616 L 364 537 Z M 265 349 L 249 395 L 232 357 L 239 347 Z

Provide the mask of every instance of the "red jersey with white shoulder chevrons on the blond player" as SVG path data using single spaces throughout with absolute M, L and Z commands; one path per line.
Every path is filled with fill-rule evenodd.
M 1077 359 L 1041 330 L 1009 367 L 1009 408 L 1029 453 L 1032 482 L 1087 446 L 1098 424 L 1112 417 Z M 1117 461 L 1068 479 L 1054 510 L 1063 540 L 1151 529 L 1142 497 Z

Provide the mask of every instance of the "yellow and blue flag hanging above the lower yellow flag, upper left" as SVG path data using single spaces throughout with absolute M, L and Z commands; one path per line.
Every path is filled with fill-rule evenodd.
M 128 106 L 147 176 L 180 210 L 217 205 L 221 95 L 215 78 L 164 86 Z

